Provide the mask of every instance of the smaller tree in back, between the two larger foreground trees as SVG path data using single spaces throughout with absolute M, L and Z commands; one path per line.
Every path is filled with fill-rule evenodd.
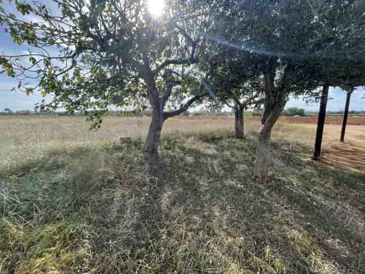
M 219 22 L 220 13 L 214 20 Z M 239 23 L 239 21 L 238 21 Z M 229 40 L 236 31 L 236 25 L 215 23 L 209 38 L 221 35 L 221 39 Z M 212 33 L 214 31 L 214 33 Z M 212 39 L 214 41 L 214 38 Z M 262 105 L 262 79 L 252 67 L 252 56 L 221 43 L 210 43 L 205 48 L 200 62 L 200 70 L 204 72 L 214 97 L 230 107 L 235 114 L 235 135 L 244 139 L 243 113 L 251 106 Z M 210 100 L 213 106 L 215 100 Z

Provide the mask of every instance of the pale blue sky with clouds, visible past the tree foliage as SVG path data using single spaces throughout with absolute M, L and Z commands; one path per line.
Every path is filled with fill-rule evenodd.
M 49 4 L 47 0 L 43 0 L 41 2 Z M 7 2 L 4 2 L 4 5 L 9 5 L 6 3 Z M 17 13 L 13 8 L 7 8 L 10 8 L 13 13 Z M 0 27 L 0 41 L 1 54 L 21 54 L 28 50 L 27 45 L 19 46 L 14 44 L 9 33 L 5 32 L 4 27 Z M 34 84 L 34 82 L 29 83 Z M 9 78 L 6 73 L 0 74 L 0 111 L 3 111 L 5 108 L 10 108 L 13 111 L 33 110 L 34 105 L 37 102 L 41 102 L 43 99 L 42 95 L 38 93 L 27 96 L 21 91 L 10 91 L 13 87 L 16 87 L 17 84 L 18 81 L 16 79 Z M 351 97 L 350 110 L 365 111 L 365 98 L 361 98 L 364 95 L 365 90 L 363 88 L 356 89 Z M 340 88 L 332 87 L 330 89 L 330 97 L 332 99 L 330 99 L 327 105 L 327 111 L 340 111 L 345 108 L 346 93 Z M 47 97 L 45 99 L 46 101 L 50 101 L 52 97 Z M 318 111 L 319 104 L 307 104 L 303 98 L 291 98 L 287 103 L 286 108 L 292 107 L 303 108 L 306 111 Z

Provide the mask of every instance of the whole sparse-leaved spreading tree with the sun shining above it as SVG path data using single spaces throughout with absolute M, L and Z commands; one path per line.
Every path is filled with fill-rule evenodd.
M 53 15 L 45 5 L 16 2 L 22 15 L 39 22 L 0 10 L 0 23 L 13 40 L 32 47 L 26 54 L 0 55 L 4 70 L 10 77 L 39 80 L 34 87 L 19 82 L 27 93 L 53 94 L 53 101 L 43 101 L 39 108 L 89 113 L 95 127 L 111 105 L 145 109 L 149 103 L 152 121 L 143 151 L 157 154 L 163 122 L 205 95 L 189 89 L 196 80 L 187 68 L 198 62 L 203 49 L 205 41 L 196 29 L 209 27 L 203 19 L 210 6 L 171 0 L 157 18 L 142 0 L 53 3 L 61 14 Z M 173 97 L 185 104 L 164 111 Z

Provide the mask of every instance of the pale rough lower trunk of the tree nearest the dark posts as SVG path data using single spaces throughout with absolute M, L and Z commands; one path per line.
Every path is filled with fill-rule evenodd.
M 265 184 L 268 176 L 271 130 L 260 132 L 256 149 L 254 180 Z

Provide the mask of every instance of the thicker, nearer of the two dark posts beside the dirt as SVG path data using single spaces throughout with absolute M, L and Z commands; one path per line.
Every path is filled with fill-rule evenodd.
M 316 134 L 316 140 L 315 140 L 315 145 L 314 145 L 314 155 L 313 155 L 313 160 L 317 160 L 317 161 L 320 160 L 329 88 L 330 88 L 329 85 L 323 86 L 321 100 L 320 100 L 318 123 L 317 123 L 317 134 Z

